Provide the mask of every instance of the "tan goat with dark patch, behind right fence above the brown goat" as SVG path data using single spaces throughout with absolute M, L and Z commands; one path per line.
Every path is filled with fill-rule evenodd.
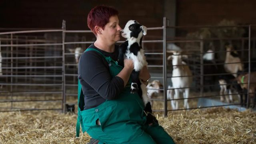
M 237 52 L 233 50 L 234 48 L 232 45 L 226 45 L 225 63 L 231 64 L 224 64 L 224 68 L 226 72 L 232 73 L 234 77 L 237 77 L 237 72 L 243 71 L 243 64 L 241 63 L 241 59 L 238 57 Z

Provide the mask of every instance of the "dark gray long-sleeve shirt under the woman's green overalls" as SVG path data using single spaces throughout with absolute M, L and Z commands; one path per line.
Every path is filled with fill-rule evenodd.
M 115 51 L 108 53 L 93 44 L 90 48 L 97 49 L 106 57 L 118 58 L 118 45 Z M 111 77 L 108 62 L 96 51 L 84 52 L 78 63 L 78 79 L 84 93 L 84 110 L 94 108 L 106 100 L 115 99 L 124 89 L 124 81 L 120 77 Z

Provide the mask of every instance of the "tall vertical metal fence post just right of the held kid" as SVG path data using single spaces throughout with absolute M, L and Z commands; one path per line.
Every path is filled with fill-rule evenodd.
M 164 116 L 167 117 L 167 74 L 166 74 L 166 17 L 163 18 L 163 76 L 164 76 Z

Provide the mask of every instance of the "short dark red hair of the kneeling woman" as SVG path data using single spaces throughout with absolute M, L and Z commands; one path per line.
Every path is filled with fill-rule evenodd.
M 104 30 L 105 25 L 109 22 L 109 18 L 116 15 L 118 15 L 118 11 L 112 7 L 95 6 L 88 14 L 87 25 L 96 36 L 95 26 L 100 26 Z

